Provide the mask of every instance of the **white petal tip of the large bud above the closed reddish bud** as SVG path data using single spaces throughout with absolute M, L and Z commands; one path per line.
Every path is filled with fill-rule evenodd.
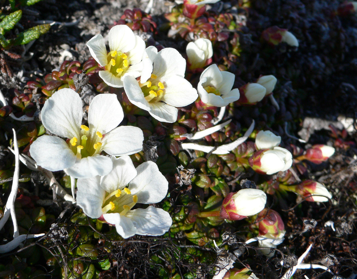
M 232 198 L 236 206 L 235 213 L 241 216 L 252 216 L 261 212 L 267 201 L 262 190 L 250 188 L 239 190 Z

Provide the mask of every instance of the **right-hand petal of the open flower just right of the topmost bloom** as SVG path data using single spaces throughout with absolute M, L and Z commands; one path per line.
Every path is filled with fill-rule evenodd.
M 191 83 L 180 76 L 171 76 L 161 80 L 165 86 L 165 93 L 161 100 L 174 107 L 189 105 L 198 97 L 197 91 Z

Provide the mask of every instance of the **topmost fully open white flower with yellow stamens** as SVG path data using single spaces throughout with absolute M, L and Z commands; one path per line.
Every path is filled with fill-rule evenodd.
M 104 38 L 96 35 L 87 42 L 93 58 L 105 68 L 99 76 L 112 87 L 123 87 L 123 78 L 127 75 L 140 76 L 145 52 L 145 42 L 126 25 L 112 27 L 108 35 L 109 49 L 107 53 Z

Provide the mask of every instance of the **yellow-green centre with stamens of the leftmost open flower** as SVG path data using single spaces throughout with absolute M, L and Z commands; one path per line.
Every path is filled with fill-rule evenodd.
M 101 140 L 103 138 L 102 133 L 99 131 L 96 132 L 96 137 L 90 139 L 90 131 L 86 125 L 81 125 L 80 139 L 73 137 L 67 139 L 67 144 L 73 153 L 77 156 L 78 159 L 93 156 L 100 153 L 102 147 Z M 92 144 L 95 142 L 94 144 Z

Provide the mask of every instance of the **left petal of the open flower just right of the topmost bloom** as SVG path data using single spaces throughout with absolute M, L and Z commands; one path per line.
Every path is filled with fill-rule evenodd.
M 130 102 L 137 107 L 150 110 L 149 102 L 144 97 L 137 80 L 131 76 L 124 77 L 124 90 Z

